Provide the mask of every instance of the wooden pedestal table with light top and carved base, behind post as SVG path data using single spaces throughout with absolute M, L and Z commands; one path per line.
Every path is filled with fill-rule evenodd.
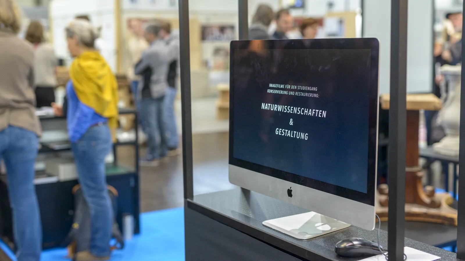
M 389 94 L 380 98 L 381 108 L 389 109 Z M 407 94 L 407 133 L 405 158 L 405 220 L 434 222 L 457 226 L 457 210 L 450 207 L 452 196 L 435 193 L 431 186 L 423 187 L 419 167 L 419 110 L 438 111 L 441 101 L 432 93 Z M 382 221 L 387 220 L 388 186 L 379 185 L 376 212 Z

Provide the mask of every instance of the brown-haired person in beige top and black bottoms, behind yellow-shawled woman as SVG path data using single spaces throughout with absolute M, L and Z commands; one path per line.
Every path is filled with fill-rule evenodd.
M 53 46 L 45 41 L 44 26 L 40 21 L 32 21 L 27 27 L 26 40 L 33 44 L 35 96 L 37 107 L 48 107 L 55 101 L 55 87 L 57 86 L 56 67 L 58 58 Z

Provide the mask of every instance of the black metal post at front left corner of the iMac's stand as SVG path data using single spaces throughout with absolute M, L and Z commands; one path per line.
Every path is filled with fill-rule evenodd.
M 191 58 L 189 45 L 189 0 L 179 0 L 179 66 L 181 78 L 182 167 L 184 199 L 193 199 Z

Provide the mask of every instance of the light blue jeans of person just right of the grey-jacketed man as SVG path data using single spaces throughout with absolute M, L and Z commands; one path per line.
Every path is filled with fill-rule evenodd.
M 174 99 L 176 88 L 168 87 L 165 95 L 165 126 L 168 148 L 173 150 L 179 146 L 178 129 L 176 127 L 176 116 L 174 115 Z

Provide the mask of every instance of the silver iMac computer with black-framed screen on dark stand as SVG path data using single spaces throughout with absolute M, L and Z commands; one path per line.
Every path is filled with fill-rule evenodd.
M 229 181 L 312 212 L 299 239 L 375 227 L 377 39 L 231 42 Z

